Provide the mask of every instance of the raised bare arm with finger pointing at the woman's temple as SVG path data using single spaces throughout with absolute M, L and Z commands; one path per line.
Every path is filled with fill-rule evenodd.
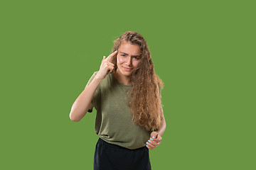
M 117 53 L 117 51 L 112 52 L 107 58 L 104 56 L 102 63 L 100 65 L 100 70 L 92 79 L 92 82 L 85 87 L 85 90 L 78 96 L 78 98 L 73 103 L 70 111 L 70 119 L 79 122 L 87 113 L 88 109 L 92 106 L 92 98 L 95 94 L 97 86 L 99 86 L 100 81 L 105 79 L 107 74 L 113 71 L 114 64 L 110 62 L 111 58 Z

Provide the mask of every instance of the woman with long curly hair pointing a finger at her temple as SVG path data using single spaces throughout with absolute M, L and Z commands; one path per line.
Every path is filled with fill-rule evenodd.
M 166 128 L 162 87 L 142 35 L 128 31 L 117 38 L 70 111 L 70 119 L 80 121 L 97 110 L 94 169 L 151 169 L 149 149 Z

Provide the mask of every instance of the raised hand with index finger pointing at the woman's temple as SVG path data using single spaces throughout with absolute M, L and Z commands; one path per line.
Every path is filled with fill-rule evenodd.
M 102 59 L 102 63 L 100 64 L 100 70 L 97 73 L 97 77 L 100 79 L 105 79 L 107 74 L 113 71 L 114 64 L 110 62 L 112 57 L 117 54 L 117 50 L 115 52 L 112 52 L 107 58 L 104 56 Z

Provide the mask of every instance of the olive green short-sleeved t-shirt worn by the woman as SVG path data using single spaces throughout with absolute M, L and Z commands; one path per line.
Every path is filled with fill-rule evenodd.
M 92 74 L 87 85 L 96 74 L 97 72 Z M 151 131 L 135 125 L 132 120 L 127 100 L 130 88 L 130 85 L 119 83 L 113 74 L 107 74 L 97 86 L 90 110 L 93 107 L 97 110 L 95 132 L 102 140 L 128 149 L 137 149 L 146 145 Z

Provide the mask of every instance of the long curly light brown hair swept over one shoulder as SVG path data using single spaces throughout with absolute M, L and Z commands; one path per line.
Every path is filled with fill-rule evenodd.
M 141 50 L 140 62 L 131 74 L 129 84 L 129 108 L 131 108 L 132 120 L 146 130 L 156 130 L 161 125 L 163 116 L 161 113 L 161 89 L 164 84 L 154 72 L 154 63 L 151 60 L 149 47 L 143 36 L 134 31 L 123 33 L 114 40 L 112 52 L 118 50 L 122 42 L 139 45 Z M 114 64 L 113 73 L 117 71 L 117 55 L 112 57 Z

